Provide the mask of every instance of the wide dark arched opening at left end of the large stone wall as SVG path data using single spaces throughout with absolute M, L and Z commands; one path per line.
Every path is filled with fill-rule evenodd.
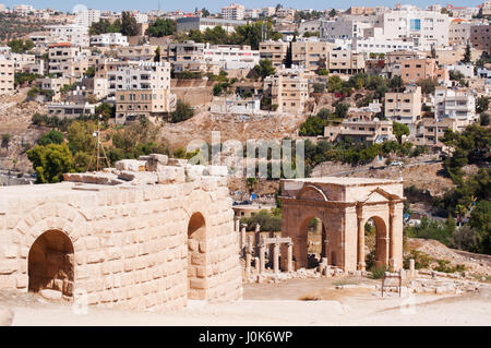
M 48 230 L 34 241 L 27 267 L 29 291 L 50 289 L 65 297 L 73 296 L 73 244 L 62 231 Z

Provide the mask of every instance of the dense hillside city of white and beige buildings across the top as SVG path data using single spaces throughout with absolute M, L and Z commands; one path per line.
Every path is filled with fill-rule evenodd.
M 0 11 L 56 16 L 55 10 L 23 4 Z M 120 21 L 121 12 L 77 7 L 44 31 L 27 34 L 34 45 L 28 51 L 0 47 L 0 94 L 15 93 L 15 74 L 32 73 L 40 93 L 36 98 L 45 98 L 51 115 L 87 115 L 104 103 L 116 109 L 115 122 L 125 123 L 139 116 L 166 120 L 178 100 L 238 118 L 307 117 L 321 93 L 330 95 L 331 110 L 339 103 L 350 105 L 346 119 L 327 125 L 320 137 L 380 143 L 394 139 L 392 124 L 398 122 L 410 130 L 405 141 L 430 146 L 439 145 L 442 130 L 462 131 L 478 121 L 478 99 L 490 94 L 491 65 L 476 65 L 491 53 L 489 1 L 478 7 L 325 9 L 313 17 L 307 16 L 312 10 L 241 3 L 218 13 L 129 13 L 137 28 L 133 36 L 93 33 L 95 23 Z M 179 39 L 148 36 L 157 19 L 172 21 Z M 261 33 L 247 43 L 185 39 L 190 31 L 204 34 L 217 26 L 232 37 L 237 27 L 264 20 L 268 24 L 258 26 Z M 261 76 L 258 67 L 265 60 L 274 71 Z M 357 74 L 400 77 L 403 86 L 364 106 L 354 97 L 368 98 L 370 91 L 328 91 L 334 76 L 348 81 Z M 216 86 L 219 79 L 226 79 L 225 86 Z M 434 91 L 426 91 L 422 82 L 431 82 Z

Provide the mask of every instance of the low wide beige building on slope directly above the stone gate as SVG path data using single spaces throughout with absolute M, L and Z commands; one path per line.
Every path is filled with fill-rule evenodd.
M 331 142 L 349 139 L 350 141 L 371 144 L 395 140 L 392 121 L 361 117 L 349 118 L 343 121 L 340 125 L 324 127 L 324 137 Z

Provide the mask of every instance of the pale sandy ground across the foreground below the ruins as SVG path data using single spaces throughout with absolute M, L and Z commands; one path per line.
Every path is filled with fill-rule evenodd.
M 228 303 L 189 301 L 170 313 L 89 308 L 75 314 L 71 303 L 48 302 L 36 295 L 0 292 L 12 325 L 490 325 L 491 289 L 462 296 L 417 295 L 382 298 L 367 278 L 289 279 L 244 285 L 243 300 Z M 352 288 L 349 285 L 367 285 Z M 335 289 L 336 285 L 346 288 Z M 320 300 L 299 300 L 304 295 Z

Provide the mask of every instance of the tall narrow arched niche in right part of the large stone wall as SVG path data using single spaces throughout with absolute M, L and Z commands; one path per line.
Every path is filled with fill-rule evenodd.
M 206 299 L 206 224 L 201 213 L 188 225 L 188 299 Z

